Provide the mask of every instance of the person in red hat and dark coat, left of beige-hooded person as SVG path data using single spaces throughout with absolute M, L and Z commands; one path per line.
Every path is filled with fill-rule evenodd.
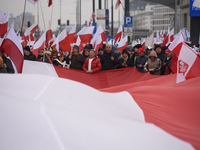
M 138 55 L 135 60 L 134 66 L 137 68 L 138 71 L 144 72 L 144 64 L 149 59 L 147 55 L 144 54 L 143 48 L 138 49 Z

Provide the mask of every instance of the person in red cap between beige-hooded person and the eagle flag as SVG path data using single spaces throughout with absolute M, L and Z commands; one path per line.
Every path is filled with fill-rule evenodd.
M 171 51 L 169 49 L 166 49 L 165 55 L 166 55 L 166 57 L 163 62 L 163 68 L 165 69 L 164 74 L 166 75 L 166 74 L 170 74 L 172 72 L 170 69 L 170 61 L 172 60 L 173 54 L 171 53 Z

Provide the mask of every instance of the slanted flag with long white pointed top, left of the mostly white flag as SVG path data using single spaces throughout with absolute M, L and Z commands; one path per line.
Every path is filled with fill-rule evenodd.
M 31 48 L 31 51 L 33 52 L 33 54 L 37 56 L 39 49 L 45 49 L 45 41 L 46 41 L 46 31 L 42 34 L 40 39 Z

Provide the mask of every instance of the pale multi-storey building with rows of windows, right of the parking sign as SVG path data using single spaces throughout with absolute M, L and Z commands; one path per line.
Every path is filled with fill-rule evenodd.
M 168 30 L 175 26 L 175 11 L 172 8 L 163 5 L 156 5 L 153 8 L 153 22 L 152 29 L 157 30 Z

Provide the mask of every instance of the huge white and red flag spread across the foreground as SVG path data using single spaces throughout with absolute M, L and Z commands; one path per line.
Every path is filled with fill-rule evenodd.
M 24 149 L 200 149 L 200 77 L 176 84 L 176 74 L 124 68 L 88 75 L 31 61 L 20 76 L 0 76 L 1 85 L 9 84 L 0 89 L 7 99 L 0 106 L 2 149 L 10 137 L 10 146 Z M 20 94 L 24 89 L 28 95 Z

